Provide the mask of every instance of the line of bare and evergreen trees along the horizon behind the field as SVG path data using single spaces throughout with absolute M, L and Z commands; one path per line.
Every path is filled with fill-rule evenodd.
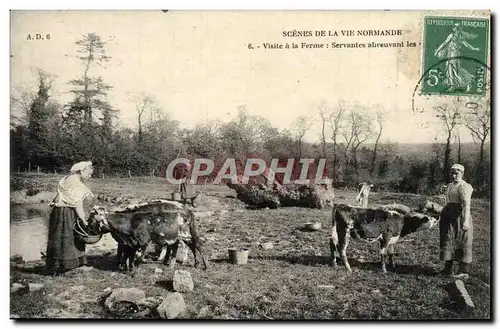
M 384 190 L 434 193 L 449 177 L 449 167 L 460 162 L 466 179 L 483 195 L 490 187 L 490 107 L 449 102 L 433 109 L 446 132 L 443 143 L 420 146 L 414 151 L 392 143 L 380 143 L 387 112 L 357 103 L 320 101 L 317 113 L 297 117 L 289 129 L 274 127 L 263 117 L 251 115 L 246 106 L 237 109 L 229 122 L 202 122 L 185 128 L 166 112 L 152 95 L 128 94 L 136 110 L 137 127 L 117 123 L 119 108 L 107 101 L 108 85 L 95 75 L 112 58 L 106 42 L 89 33 L 76 41 L 76 60 L 81 74 L 68 81 L 72 99 L 61 104 L 53 96 L 56 76 L 36 72 L 35 90 L 16 89 L 11 107 L 11 171 L 41 168 L 44 172 L 67 172 L 78 161 L 92 160 L 96 176 L 126 177 L 164 174 L 179 157 L 208 158 L 215 163 L 236 158 L 327 159 L 327 174 L 334 181 L 355 185 L 374 182 Z M 319 122 L 319 140 L 304 140 Z M 458 128 L 466 127 L 474 144 L 460 142 Z M 214 173 L 215 176 L 216 173 Z M 211 177 L 213 179 L 213 177 Z

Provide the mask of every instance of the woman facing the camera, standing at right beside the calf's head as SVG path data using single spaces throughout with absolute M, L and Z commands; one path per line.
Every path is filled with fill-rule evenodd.
M 450 275 L 453 261 L 460 262 L 456 278 L 467 278 L 472 263 L 473 226 L 470 211 L 473 188 L 463 180 L 464 166 L 451 167 L 453 181 L 446 191 L 446 205 L 439 223 L 440 259 L 445 262 L 443 275 Z

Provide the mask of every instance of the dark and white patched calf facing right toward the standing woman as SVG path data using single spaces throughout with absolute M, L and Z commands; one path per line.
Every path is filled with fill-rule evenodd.
M 345 267 L 351 272 L 347 261 L 349 239 L 362 239 L 369 242 L 380 242 L 380 262 L 382 272 L 387 272 L 385 256 L 389 255 L 389 266 L 394 267 L 394 244 L 402 237 L 413 232 L 430 229 L 436 224 L 434 217 L 409 212 L 402 214 L 388 210 L 387 207 L 360 208 L 346 204 L 336 204 L 332 210 L 332 235 L 330 251 L 332 265 L 336 266 L 335 252 Z

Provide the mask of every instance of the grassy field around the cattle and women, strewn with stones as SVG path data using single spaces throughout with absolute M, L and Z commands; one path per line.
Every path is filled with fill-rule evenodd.
M 27 179 L 55 187 L 60 176 L 31 175 Z M 128 198 L 166 198 L 173 187 L 160 178 L 94 179 L 97 194 Z M 338 203 L 353 200 L 353 191 L 335 191 Z M 382 274 L 378 245 L 353 241 L 348 249 L 352 274 L 341 265 L 330 266 L 328 237 L 331 209 L 281 208 L 246 210 L 229 196 L 226 187 L 207 186 L 196 211 L 219 211 L 197 221 L 205 237 L 208 271 L 188 264 L 194 290 L 184 293 L 185 319 L 489 319 L 490 314 L 490 203 L 474 199 L 474 263 L 466 288 L 476 308 L 463 314 L 445 290 L 452 281 L 433 274 L 439 261 L 438 228 L 417 233 L 396 245 L 396 269 Z M 399 202 L 413 207 L 425 196 L 373 193 L 371 204 Z M 438 198 L 434 198 L 438 201 Z M 441 202 L 442 203 L 442 202 Z M 319 221 L 316 232 L 300 230 L 305 222 Z M 260 243 L 272 242 L 264 250 Z M 227 249 L 249 247 L 248 264 L 233 265 Z M 140 266 L 135 277 L 114 270 L 114 251 L 94 251 L 91 268 L 62 276 L 40 274 L 42 262 L 11 265 L 12 282 L 43 283 L 42 291 L 11 294 L 11 316 L 110 317 L 99 305 L 104 289 L 136 287 L 146 296 L 164 296 L 172 271 L 154 262 Z M 190 263 L 192 264 L 192 255 Z M 161 268 L 163 272 L 155 273 Z M 83 287 L 83 288 L 82 288 Z

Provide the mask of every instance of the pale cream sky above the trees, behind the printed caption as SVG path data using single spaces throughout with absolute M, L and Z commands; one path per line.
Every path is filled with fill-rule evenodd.
M 228 121 L 244 105 L 279 128 L 311 117 L 306 139 L 318 142 L 320 104 L 358 103 L 367 117 L 386 112 L 382 141 L 442 140 L 431 111 L 414 114 L 412 101 L 432 108 L 414 89 L 421 76 L 422 18 L 432 11 L 13 11 L 11 88 L 34 83 L 34 69 L 55 74 L 54 96 L 71 99 L 67 82 L 81 75 L 75 42 L 96 33 L 112 60 L 91 68 L 113 86 L 108 100 L 123 125 L 134 127 L 130 93 L 152 96 L 182 126 Z M 439 12 L 456 15 L 456 12 Z M 458 13 L 485 16 L 485 12 Z M 486 13 L 487 14 L 487 13 Z M 401 30 L 401 36 L 285 37 L 283 31 Z M 50 40 L 27 40 L 28 34 Z M 339 32 L 340 33 L 340 32 Z M 263 43 L 415 42 L 417 47 L 273 49 Z M 258 49 L 249 49 L 248 44 Z M 423 128 L 422 123 L 429 123 Z M 462 141 L 471 141 L 466 130 Z

